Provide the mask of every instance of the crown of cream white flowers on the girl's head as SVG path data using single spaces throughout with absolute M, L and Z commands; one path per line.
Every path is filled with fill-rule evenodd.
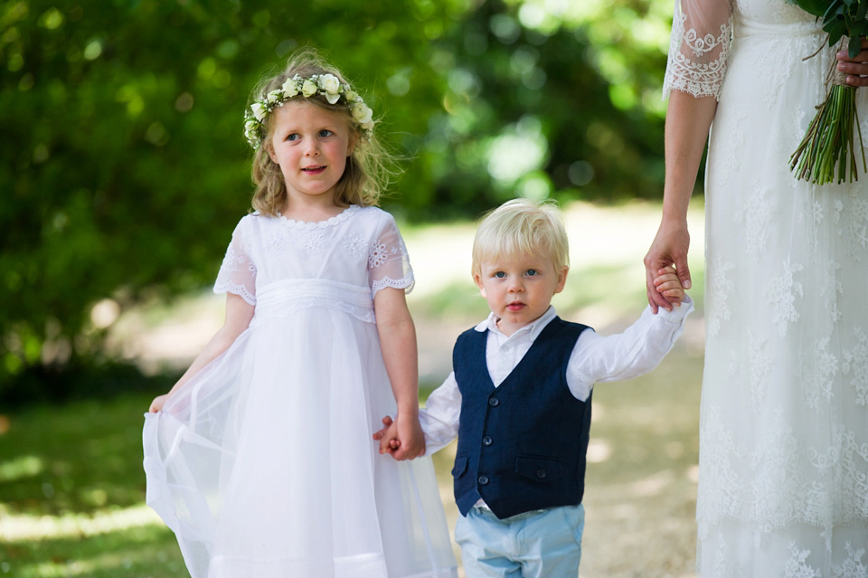
M 353 120 L 362 128 L 366 137 L 371 137 L 373 110 L 364 103 L 357 92 L 350 88 L 349 84 L 342 84 L 334 74 L 314 74 L 307 79 L 296 74 L 291 79 L 287 79 L 279 89 L 271 90 L 264 99 L 255 101 L 250 105 L 250 110 L 244 113 L 244 137 L 247 138 L 250 147 L 254 150 L 259 148 L 266 132 L 263 122 L 269 113 L 299 94 L 306 99 L 315 94 L 322 94 L 329 104 L 344 99 Z

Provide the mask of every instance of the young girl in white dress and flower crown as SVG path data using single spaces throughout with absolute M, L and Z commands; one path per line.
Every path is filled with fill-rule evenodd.
M 372 442 L 397 412 L 400 457 L 424 452 L 372 111 L 310 51 L 253 94 L 256 213 L 214 287 L 223 327 L 146 413 L 147 503 L 193 578 L 454 576 L 430 461 Z

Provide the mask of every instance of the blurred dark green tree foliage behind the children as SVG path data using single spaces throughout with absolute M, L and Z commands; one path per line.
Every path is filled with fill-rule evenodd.
M 406 158 L 411 219 L 656 196 L 668 0 L 0 3 L 0 395 L 212 280 L 250 201 L 249 90 L 315 46 Z M 109 300 L 106 300 L 109 299 Z M 96 306 L 96 307 L 95 307 Z

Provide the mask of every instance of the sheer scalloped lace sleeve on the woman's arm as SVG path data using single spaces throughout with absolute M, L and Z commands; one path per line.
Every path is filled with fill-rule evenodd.
M 730 0 L 675 0 L 663 98 L 720 97 L 732 33 Z

